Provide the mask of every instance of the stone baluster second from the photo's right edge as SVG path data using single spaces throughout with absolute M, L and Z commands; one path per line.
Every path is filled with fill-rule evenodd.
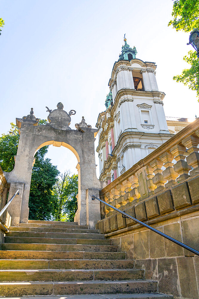
M 179 174 L 179 177 L 176 179 L 176 181 L 180 182 L 187 179 L 189 177 L 189 170 L 191 169 L 191 167 L 187 164 L 186 161 L 184 161 L 184 153 L 186 152 L 186 147 L 184 147 L 181 143 L 176 144 L 170 149 L 170 152 L 175 156 L 174 159 L 177 161 L 177 163 L 173 165 L 175 172 Z

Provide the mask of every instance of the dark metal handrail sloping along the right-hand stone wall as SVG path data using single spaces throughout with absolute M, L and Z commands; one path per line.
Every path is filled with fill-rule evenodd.
M 174 239 L 174 238 L 172 238 L 172 237 L 170 237 L 170 236 L 162 233 L 161 231 L 158 231 L 157 229 L 153 228 L 152 226 L 150 226 L 150 225 L 148 225 L 148 224 L 146 224 L 146 223 L 144 223 L 144 222 L 142 222 L 142 221 L 140 221 L 138 219 L 135 219 L 134 217 L 132 217 L 132 216 L 124 213 L 123 211 L 118 210 L 117 208 L 113 207 L 112 205 L 109 205 L 107 202 L 104 202 L 104 200 L 99 199 L 95 195 L 92 195 L 92 200 L 95 200 L 95 198 L 98 199 L 100 202 L 103 202 L 105 205 L 109 206 L 110 208 L 114 209 L 115 211 L 121 213 L 122 216 L 124 215 L 125 217 L 130 218 L 130 219 L 132 219 L 132 220 L 140 223 L 141 225 L 145 226 L 146 228 L 149 228 L 151 231 L 154 231 L 155 233 L 161 235 L 162 237 L 164 237 L 164 238 L 166 238 L 166 239 L 174 242 L 175 244 L 180 245 L 181 247 L 183 247 L 183 248 L 185 248 L 185 249 L 187 249 L 187 250 L 191 251 L 192 253 L 197 254 L 199 256 L 199 251 L 197 251 L 197 250 L 195 250 L 195 249 L 193 249 L 193 248 L 191 248 L 191 247 L 183 244 L 182 242 L 180 242 L 180 241 L 178 241 L 178 240 L 176 240 L 176 239 Z

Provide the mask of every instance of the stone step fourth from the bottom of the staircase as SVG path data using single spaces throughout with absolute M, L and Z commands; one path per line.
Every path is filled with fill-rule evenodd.
M 0 269 L 133 269 L 133 260 L 0 260 Z

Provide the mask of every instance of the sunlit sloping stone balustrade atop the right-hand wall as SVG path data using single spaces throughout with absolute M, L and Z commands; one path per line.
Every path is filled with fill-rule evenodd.
M 103 188 L 101 199 L 124 210 L 199 174 L 198 144 L 199 118 Z M 142 206 L 136 207 L 143 215 L 139 220 L 146 220 Z M 101 205 L 101 219 L 114 213 L 113 209 Z

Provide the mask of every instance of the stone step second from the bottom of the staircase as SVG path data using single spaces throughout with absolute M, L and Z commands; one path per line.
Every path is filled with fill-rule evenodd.
M 0 296 L 83 295 L 157 292 L 152 280 L 7 282 L 0 283 Z

